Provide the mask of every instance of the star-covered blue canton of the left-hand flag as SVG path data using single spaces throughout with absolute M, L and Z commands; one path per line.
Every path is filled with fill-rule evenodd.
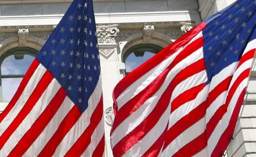
M 100 76 L 92 0 L 74 0 L 37 59 L 84 112 Z

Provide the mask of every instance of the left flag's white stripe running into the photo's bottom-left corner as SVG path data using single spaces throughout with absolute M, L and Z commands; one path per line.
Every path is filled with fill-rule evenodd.
M 48 85 L 47 89 L 35 103 L 34 107 L 30 110 L 30 113 L 9 137 L 5 145 L 3 145 L 3 148 L 0 150 L 0 156 L 9 155 L 10 151 L 15 148 L 16 144 L 20 141 L 23 135 L 26 134 L 30 127 L 34 124 L 35 120 L 37 120 L 45 108 L 47 108 L 49 102 L 51 102 L 52 98 L 54 98 L 59 88 L 61 88 L 61 85 L 57 80 L 53 79 Z

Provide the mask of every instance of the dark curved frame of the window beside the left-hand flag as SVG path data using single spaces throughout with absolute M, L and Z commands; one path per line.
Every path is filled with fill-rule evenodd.
M 30 55 L 35 56 L 38 54 L 39 51 L 33 48 L 28 47 L 21 47 L 21 48 L 13 48 L 9 49 L 0 57 L 0 103 L 9 102 L 3 101 L 3 90 L 2 90 L 2 79 L 12 79 L 12 78 L 23 78 L 24 74 L 9 74 L 9 75 L 2 75 L 2 63 L 3 61 L 12 55 Z

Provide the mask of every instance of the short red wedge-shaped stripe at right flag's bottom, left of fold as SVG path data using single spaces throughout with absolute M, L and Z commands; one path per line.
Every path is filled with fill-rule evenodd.
M 161 151 L 161 148 L 163 147 L 163 142 L 165 141 L 165 134 L 168 129 L 168 125 L 165 128 L 165 131 L 163 131 L 162 135 L 158 138 L 157 141 L 148 149 L 147 152 L 143 154 L 143 157 L 150 157 L 150 156 L 158 156 L 159 152 Z

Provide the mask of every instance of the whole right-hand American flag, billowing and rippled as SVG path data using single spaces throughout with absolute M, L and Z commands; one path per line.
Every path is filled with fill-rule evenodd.
M 222 156 L 243 103 L 255 27 L 256 1 L 236 1 L 121 80 L 113 155 Z

